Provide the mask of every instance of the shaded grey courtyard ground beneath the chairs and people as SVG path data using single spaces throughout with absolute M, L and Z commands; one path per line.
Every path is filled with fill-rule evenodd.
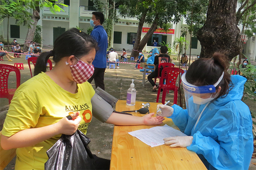
M 121 54 L 121 52 L 119 52 Z M 27 60 L 25 56 L 21 55 L 23 58 L 14 58 L 14 62 L 8 62 L 6 57 L 4 61 L 1 61 L 3 64 L 14 63 L 24 63 L 24 70 L 21 72 L 21 84 L 31 78 L 30 71 L 28 67 Z M 147 55 L 145 55 L 147 56 Z M 128 62 L 133 62 L 128 60 Z M 176 63 L 177 64 L 177 63 Z M 149 82 L 146 82 L 145 88 L 142 87 L 142 72 L 139 72 L 138 69 L 134 70 L 135 64 L 120 64 L 120 69 L 106 69 L 105 72 L 105 91 L 113 95 L 114 97 L 120 100 L 126 100 L 126 92 L 130 87 L 131 79 L 134 79 L 135 88 L 137 90 L 137 101 L 145 102 L 155 102 L 157 97 L 157 92 L 152 92 L 152 86 Z M 32 68 L 34 68 L 32 66 Z M 9 88 L 15 88 L 16 79 L 13 78 L 14 74 L 11 75 L 9 79 L 8 86 Z M 92 82 L 94 86 L 94 81 Z M 173 102 L 173 92 L 170 91 L 166 95 L 166 101 L 171 100 Z M 8 100 L 6 98 L 0 98 L 0 130 L 2 130 L 3 122 L 6 117 L 7 110 L 9 108 Z M 161 101 L 161 98 L 160 98 Z M 253 101 L 246 100 L 245 103 L 250 107 L 251 110 L 256 111 L 256 104 Z M 93 118 L 91 124 L 89 125 L 87 136 L 91 139 L 90 149 L 93 154 L 96 154 L 98 157 L 110 159 L 111 157 L 111 146 L 112 146 L 112 136 L 113 136 L 113 125 L 101 123 L 96 118 Z M 256 159 L 252 159 L 256 163 Z M 13 160 L 5 169 L 14 169 L 15 160 Z M 250 169 L 255 169 L 256 166 L 251 164 Z

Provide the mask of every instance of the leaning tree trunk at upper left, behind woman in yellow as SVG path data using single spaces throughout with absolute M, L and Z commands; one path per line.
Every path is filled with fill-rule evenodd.
M 27 52 L 29 49 L 29 43 L 30 41 L 32 41 L 34 39 L 34 34 L 35 34 L 35 29 L 37 27 L 37 22 L 40 19 L 40 8 L 39 5 L 38 7 L 36 7 L 36 9 L 33 10 L 33 15 L 31 17 L 31 19 L 33 20 L 33 22 L 31 22 L 31 24 L 29 24 L 29 30 L 27 30 L 27 36 L 26 36 L 26 40 L 25 40 L 25 44 L 23 46 L 23 51 Z

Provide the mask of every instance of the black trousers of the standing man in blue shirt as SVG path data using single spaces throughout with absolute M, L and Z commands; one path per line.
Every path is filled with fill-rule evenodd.
M 106 68 L 100 69 L 100 68 L 94 67 L 93 76 L 91 76 L 91 78 L 88 80 L 88 82 L 91 83 L 94 79 L 96 88 L 99 86 L 100 88 L 105 90 L 105 84 L 104 84 L 105 70 L 106 70 Z

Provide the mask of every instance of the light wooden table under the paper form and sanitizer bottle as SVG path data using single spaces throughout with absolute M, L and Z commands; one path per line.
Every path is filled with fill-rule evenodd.
M 119 100 L 116 110 L 137 110 L 142 107 L 142 103 L 146 102 L 136 101 L 135 106 L 126 106 L 126 101 Z M 149 111 L 155 112 L 158 103 L 150 104 Z M 140 113 L 133 115 L 143 116 Z M 162 125 L 164 124 L 178 129 L 172 119 L 165 118 Z M 110 170 L 206 170 L 197 154 L 187 148 L 169 148 L 166 145 L 151 148 L 128 134 L 131 131 L 152 127 L 154 126 L 114 126 Z

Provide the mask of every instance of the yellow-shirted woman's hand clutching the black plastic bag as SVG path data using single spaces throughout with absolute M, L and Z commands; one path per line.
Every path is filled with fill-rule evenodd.
M 72 120 L 64 117 L 56 123 L 56 130 L 59 132 L 59 134 L 72 135 L 76 132 L 78 125 L 82 120 L 79 113 L 80 112 L 71 114 L 70 116 L 72 117 Z

